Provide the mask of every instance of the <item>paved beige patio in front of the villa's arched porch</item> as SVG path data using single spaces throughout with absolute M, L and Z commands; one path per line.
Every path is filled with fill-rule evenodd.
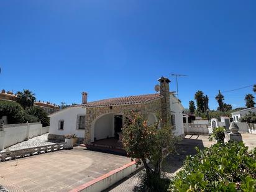
M 127 157 L 75 147 L 1 162 L 0 184 L 9 191 L 69 191 L 129 162 Z

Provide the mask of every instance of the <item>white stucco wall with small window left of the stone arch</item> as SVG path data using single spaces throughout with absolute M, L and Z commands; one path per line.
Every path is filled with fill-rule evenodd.
M 76 134 L 77 137 L 85 137 L 85 129 L 77 129 L 78 115 L 85 115 L 86 109 L 82 107 L 69 107 L 50 116 L 49 134 L 67 135 Z M 58 122 L 64 120 L 63 130 L 58 129 Z

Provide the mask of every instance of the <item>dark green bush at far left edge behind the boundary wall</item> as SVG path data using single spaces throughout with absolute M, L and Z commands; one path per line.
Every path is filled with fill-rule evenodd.
M 0 117 L 7 116 L 8 124 L 24 122 L 24 109 L 14 101 L 0 101 Z

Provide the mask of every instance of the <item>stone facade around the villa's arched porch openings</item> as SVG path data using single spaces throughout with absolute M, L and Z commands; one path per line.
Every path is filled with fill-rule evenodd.
M 144 104 L 127 104 L 119 106 L 104 106 L 86 108 L 85 121 L 85 144 L 91 142 L 91 129 L 94 127 L 94 122 L 104 114 L 116 113 L 125 117 L 130 117 L 130 112 L 134 111 L 147 118 L 150 113 L 161 114 L 161 99 L 155 99 Z

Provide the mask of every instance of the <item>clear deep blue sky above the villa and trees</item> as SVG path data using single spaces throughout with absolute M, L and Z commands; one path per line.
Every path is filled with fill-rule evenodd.
M 179 80 L 183 106 L 202 90 L 256 83 L 256 1 L 0 1 L 0 89 L 52 103 L 154 93 Z M 224 93 L 244 106 L 252 88 Z

